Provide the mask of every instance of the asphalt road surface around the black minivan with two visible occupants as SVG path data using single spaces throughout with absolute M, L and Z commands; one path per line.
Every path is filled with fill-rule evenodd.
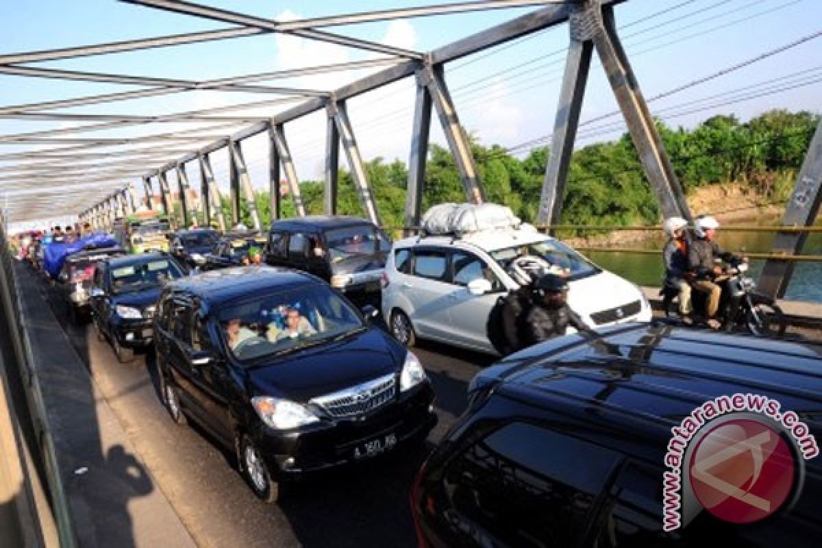
M 446 346 L 414 349 L 436 390 L 439 423 L 426 447 L 306 477 L 263 504 L 209 435 L 171 421 L 152 355 L 121 364 L 90 325 L 72 325 L 53 288 L 42 291 L 82 361 L 182 523 L 200 546 L 416 546 L 409 488 L 433 444 L 466 406 L 465 390 L 494 360 Z

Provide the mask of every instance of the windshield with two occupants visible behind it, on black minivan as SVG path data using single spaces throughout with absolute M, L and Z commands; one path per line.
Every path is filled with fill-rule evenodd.
M 306 285 L 259 295 L 219 311 L 226 347 L 239 361 L 293 352 L 365 329 L 363 320 L 328 286 Z

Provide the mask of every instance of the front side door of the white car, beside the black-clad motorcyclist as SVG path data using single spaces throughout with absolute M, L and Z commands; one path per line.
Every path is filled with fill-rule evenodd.
M 487 263 L 470 251 L 456 250 L 450 254 L 451 287 L 448 295 L 448 314 L 452 337 L 471 348 L 493 350 L 487 336 L 487 321 L 496 300 L 505 286 Z M 484 295 L 472 295 L 468 284 L 475 279 L 486 279 L 492 291 Z

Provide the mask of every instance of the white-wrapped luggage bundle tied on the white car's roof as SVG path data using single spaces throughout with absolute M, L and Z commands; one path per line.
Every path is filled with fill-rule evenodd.
M 521 223 L 506 205 L 446 203 L 427 210 L 422 228 L 423 234 L 461 236 L 481 230 L 519 228 Z

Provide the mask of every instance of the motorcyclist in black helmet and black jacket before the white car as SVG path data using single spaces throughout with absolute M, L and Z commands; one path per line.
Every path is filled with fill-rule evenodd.
M 588 330 L 582 318 L 566 302 L 568 284 L 564 277 L 551 272 L 543 274 L 534 283 L 533 293 L 533 305 L 523 322 L 522 341 L 526 346 L 564 335 L 569 325 L 580 331 Z

